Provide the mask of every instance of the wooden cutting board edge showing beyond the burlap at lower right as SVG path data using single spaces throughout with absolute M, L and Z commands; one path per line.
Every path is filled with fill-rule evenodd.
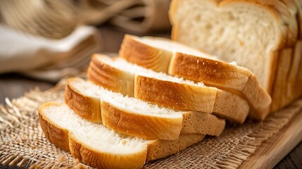
M 239 168 L 273 168 L 302 141 L 302 111 L 263 142 Z

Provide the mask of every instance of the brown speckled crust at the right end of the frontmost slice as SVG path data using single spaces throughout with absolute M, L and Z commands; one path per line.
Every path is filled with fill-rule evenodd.
M 175 140 L 154 140 L 148 146 L 146 161 L 153 161 L 172 154 L 177 154 L 187 147 L 200 142 L 205 136 L 203 134 L 181 134 Z

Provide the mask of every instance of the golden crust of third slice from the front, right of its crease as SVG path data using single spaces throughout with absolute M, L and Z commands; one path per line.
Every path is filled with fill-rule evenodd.
M 213 112 L 215 115 L 236 123 L 244 123 L 249 111 L 248 103 L 244 99 L 220 89 L 196 87 L 143 75 L 136 76 L 135 87 L 134 96 L 138 99 L 178 110 Z M 215 96 L 213 96 L 214 91 Z M 214 105 L 210 102 L 213 98 Z M 210 106 L 213 107 L 210 108 Z M 208 108 L 209 111 L 204 108 Z

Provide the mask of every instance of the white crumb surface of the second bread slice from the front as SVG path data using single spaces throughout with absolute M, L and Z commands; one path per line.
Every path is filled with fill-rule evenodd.
M 103 87 L 93 84 L 92 82 L 84 81 L 80 78 L 75 78 L 74 80 L 71 80 L 70 83 L 82 94 L 99 97 L 101 101 L 107 101 L 113 106 L 125 111 L 164 118 L 182 118 L 181 113 L 177 113 L 170 108 L 159 107 L 156 104 L 149 104 L 139 99 L 122 96 L 122 94 L 111 92 L 108 89 L 104 89 Z

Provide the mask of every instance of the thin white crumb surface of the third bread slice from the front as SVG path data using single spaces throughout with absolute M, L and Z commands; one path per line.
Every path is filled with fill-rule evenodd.
M 127 71 L 127 73 L 130 73 L 133 76 L 135 74 L 138 74 L 138 75 L 144 75 L 146 77 L 155 77 L 159 80 L 172 81 L 172 82 L 178 82 L 178 83 L 187 83 L 187 84 L 191 84 L 191 85 L 204 87 L 203 82 L 196 83 L 191 80 L 184 80 L 184 78 L 182 78 L 182 77 L 175 77 L 175 76 L 167 75 L 166 73 L 158 73 L 153 70 L 143 68 L 139 65 L 129 63 L 129 62 L 125 61 L 125 59 L 123 59 L 123 58 L 111 59 L 108 56 L 101 55 L 101 54 L 99 54 L 97 58 L 99 59 L 99 61 L 106 63 L 108 65 L 111 65 L 114 68 L 122 69 L 123 71 Z

